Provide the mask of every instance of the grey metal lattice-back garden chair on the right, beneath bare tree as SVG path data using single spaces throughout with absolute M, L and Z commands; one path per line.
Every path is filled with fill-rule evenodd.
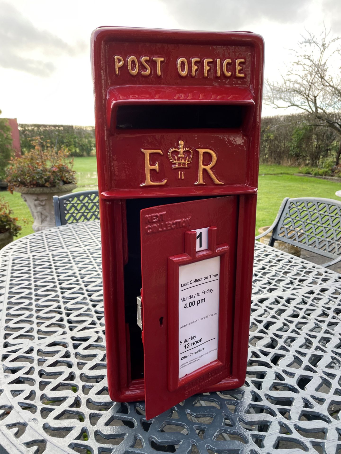
M 341 260 L 341 202 L 337 200 L 286 197 L 273 224 L 255 239 L 271 230 L 269 246 L 280 240 L 333 259 L 322 266 Z

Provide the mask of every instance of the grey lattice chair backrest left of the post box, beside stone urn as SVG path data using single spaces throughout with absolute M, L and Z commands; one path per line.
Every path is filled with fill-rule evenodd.
M 80 191 L 54 196 L 53 205 L 56 226 L 100 218 L 98 191 Z

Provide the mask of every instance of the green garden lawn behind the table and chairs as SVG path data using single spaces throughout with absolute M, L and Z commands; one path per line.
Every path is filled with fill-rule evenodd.
M 97 188 L 96 158 L 75 158 L 74 169 L 77 172 L 77 190 Z M 259 191 L 257 204 L 256 228 L 266 226 L 275 219 L 278 208 L 284 197 L 327 197 L 338 199 L 335 191 L 341 189 L 340 183 L 334 183 L 320 178 L 296 177 L 297 167 L 278 165 L 261 165 L 259 168 Z M 33 219 L 25 202 L 19 193 L 2 191 L 1 196 L 10 202 L 10 207 L 16 217 L 28 224 L 22 224 L 20 236 L 32 233 Z M 258 232 L 258 230 L 257 230 Z

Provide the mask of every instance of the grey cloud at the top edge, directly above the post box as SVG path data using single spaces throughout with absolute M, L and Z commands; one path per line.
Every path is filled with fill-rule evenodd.
M 238 30 L 266 18 L 279 23 L 301 22 L 309 0 L 161 0 L 181 27 Z

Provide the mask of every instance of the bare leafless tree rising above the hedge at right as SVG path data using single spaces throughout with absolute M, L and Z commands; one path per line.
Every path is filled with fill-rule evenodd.
M 336 164 L 341 156 L 341 39 L 302 36 L 295 61 L 281 82 L 266 82 L 265 103 L 278 109 L 294 107 L 311 115 L 311 124 L 332 128 L 340 138 Z

